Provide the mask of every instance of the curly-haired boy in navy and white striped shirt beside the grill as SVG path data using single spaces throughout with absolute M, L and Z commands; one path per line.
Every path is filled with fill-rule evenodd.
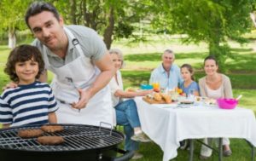
M 25 124 L 55 124 L 58 109 L 47 83 L 37 81 L 44 72 L 40 51 L 31 45 L 20 45 L 9 55 L 4 69 L 18 84 L 5 89 L 0 96 L 0 124 L 3 128 Z

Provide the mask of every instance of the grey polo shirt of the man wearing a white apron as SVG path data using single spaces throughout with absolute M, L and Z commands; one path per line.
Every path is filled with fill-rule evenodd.
M 92 29 L 85 26 L 65 26 L 73 36 L 79 41 L 81 49 L 84 55 L 91 60 L 99 60 L 103 55 L 107 54 L 107 48 L 102 38 Z M 66 33 L 67 34 L 67 33 Z M 35 39 L 32 45 L 37 46 L 41 51 L 42 55 L 47 55 L 49 59 L 49 64 L 54 67 L 61 67 L 69 62 L 72 62 L 79 57 L 79 50 L 75 49 L 73 44 L 73 39 L 68 37 L 68 48 L 67 55 L 65 59 L 61 59 L 58 55 L 52 53 L 48 48 L 44 46 L 38 39 Z M 44 56 L 43 56 L 44 58 Z

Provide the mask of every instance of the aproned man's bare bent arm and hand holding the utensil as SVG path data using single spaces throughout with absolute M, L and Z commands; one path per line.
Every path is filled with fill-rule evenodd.
M 104 88 L 109 83 L 110 79 L 113 78 L 115 70 L 110 55 L 103 55 L 100 60 L 95 60 L 94 63 L 102 72 L 98 75 L 96 81 L 91 84 L 90 88 L 85 90 L 79 89 L 80 100 L 78 103 L 73 103 L 74 108 L 84 108 L 90 98 L 96 95 L 96 93 Z

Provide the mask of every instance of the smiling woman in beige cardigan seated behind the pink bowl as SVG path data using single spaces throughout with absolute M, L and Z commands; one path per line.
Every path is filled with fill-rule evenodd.
M 218 62 L 212 55 L 207 56 L 204 60 L 204 70 L 206 76 L 199 79 L 201 96 L 206 96 L 212 99 L 218 98 L 233 98 L 232 87 L 230 78 L 226 75 L 218 72 Z M 212 139 L 207 138 L 205 143 L 211 145 Z M 232 152 L 230 150 L 230 140 L 223 138 L 224 157 L 229 157 Z M 212 149 L 202 146 L 201 147 L 201 159 L 210 158 L 212 155 Z

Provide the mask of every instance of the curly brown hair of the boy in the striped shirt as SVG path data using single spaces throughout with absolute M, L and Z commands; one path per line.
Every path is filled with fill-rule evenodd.
M 39 78 L 40 75 L 44 72 L 44 60 L 42 58 L 41 52 L 37 47 L 27 44 L 20 45 L 10 52 L 6 66 L 4 68 L 4 72 L 9 75 L 9 78 L 12 81 L 18 82 L 19 78 L 15 72 L 15 64 L 17 62 L 24 62 L 27 60 L 34 60 L 38 62 L 39 70 L 36 78 Z

